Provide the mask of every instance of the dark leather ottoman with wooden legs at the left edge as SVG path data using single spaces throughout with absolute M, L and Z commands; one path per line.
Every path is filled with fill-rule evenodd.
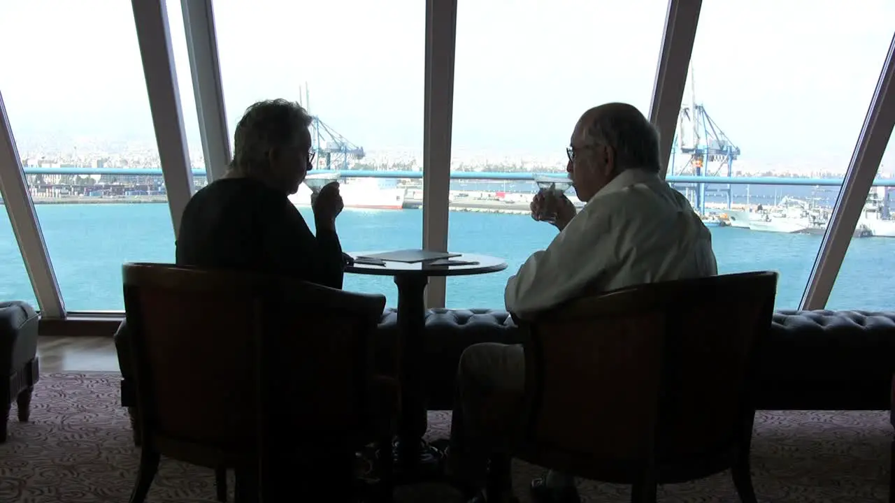
M 0 303 L 0 443 L 6 441 L 9 413 L 16 402 L 19 421 L 28 421 L 31 392 L 38 382 L 38 313 L 28 303 Z

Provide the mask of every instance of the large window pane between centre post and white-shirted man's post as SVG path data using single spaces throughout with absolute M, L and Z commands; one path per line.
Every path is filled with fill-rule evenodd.
M 667 8 L 665 0 L 461 0 L 452 169 L 564 172 L 569 136 L 585 110 L 625 101 L 647 113 Z M 524 213 L 533 182 L 455 181 L 451 189 L 461 196 L 456 209 L 486 209 L 450 214 L 450 250 L 497 256 L 509 267 L 448 278 L 447 307 L 502 307 L 507 277 L 556 230 L 493 213 Z

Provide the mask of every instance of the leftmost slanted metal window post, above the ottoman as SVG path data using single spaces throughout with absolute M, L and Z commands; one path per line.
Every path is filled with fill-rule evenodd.
M 6 115 L 3 93 L 0 93 L 0 194 L 3 196 L 10 225 L 13 226 L 15 240 L 19 243 L 21 258 L 37 297 L 41 317 L 64 318 L 65 304 L 21 167 L 13 128 Z

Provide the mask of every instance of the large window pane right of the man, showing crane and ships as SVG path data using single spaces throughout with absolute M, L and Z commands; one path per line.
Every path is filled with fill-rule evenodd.
M 778 308 L 798 307 L 840 192 L 807 179 L 844 176 L 892 30 L 882 1 L 703 3 L 669 177 L 801 178 L 677 185 L 705 217 L 738 219 L 712 229 L 719 272 L 779 271 Z

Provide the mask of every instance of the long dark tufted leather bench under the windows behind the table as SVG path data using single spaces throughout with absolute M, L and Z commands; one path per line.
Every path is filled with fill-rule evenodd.
M 396 313 L 380 322 L 377 361 L 396 356 Z M 522 342 L 501 310 L 426 314 L 425 368 L 430 410 L 451 408 L 460 354 L 479 342 Z M 895 370 L 895 312 L 777 311 L 761 351 L 758 408 L 764 410 L 889 410 Z M 382 368 L 391 371 L 391 368 Z

